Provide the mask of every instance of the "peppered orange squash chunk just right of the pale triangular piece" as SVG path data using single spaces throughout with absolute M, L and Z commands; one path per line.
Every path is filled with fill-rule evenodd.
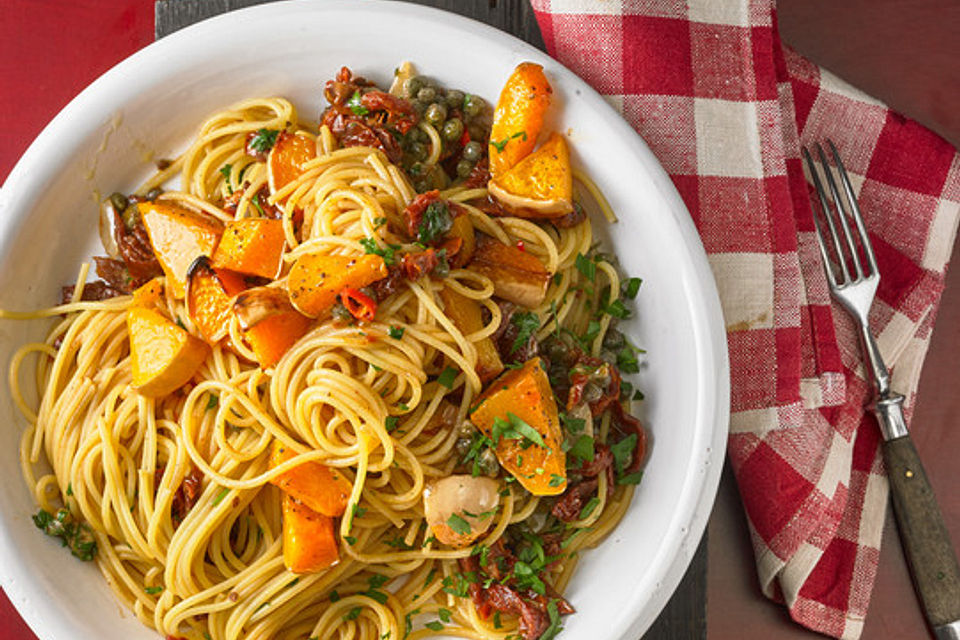
M 252 276 L 276 278 L 287 238 L 283 221 L 243 218 L 227 223 L 213 252 L 214 269 L 230 269 Z

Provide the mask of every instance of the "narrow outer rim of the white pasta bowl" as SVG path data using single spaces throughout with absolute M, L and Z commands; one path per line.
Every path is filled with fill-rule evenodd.
M 42 168 L 44 160 L 55 153 L 54 145 L 57 141 L 77 135 L 70 129 L 76 127 L 77 121 L 89 121 L 90 117 L 84 114 L 88 114 L 90 107 L 102 100 L 101 96 L 122 89 L 120 83 L 124 78 L 142 67 L 157 64 L 169 52 L 180 50 L 193 39 L 229 30 L 232 25 L 241 21 L 255 20 L 274 13 L 315 11 L 389 13 L 398 17 L 417 17 L 436 23 L 440 28 L 481 33 L 492 46 L 507 48 L 527 59 L 548 63 L 562 70 L 563 82 L 578 92 L 578 99 L 587 101 L 591 110 L 604 119 L 605 125 L 620 133 L 625 144 L 647 170 L 659 196 L 674 214 L 674 223 L 685 243 L 688 267 L 692 275 L 688 282 L 694 289 L 690 295 L 689 313 L 694 328 L 699 388 L 703 393 L 699 396 L 696 408 L 698 428 L 695 441 L 691 443 L 694 453 L 690 460 L 690 472 L 681 493 L 680 504 L 683 508 L 674 510 L 670 523 L 670 529 L 680 535 L 665 544 L 667 553 L 664 557 L 667 562 L 661 560 L 659 564 L 653 565 L 653 570 L 658 572 L 658 580 L 652 596 L 645 597 L 642 602 L 631 601 L 631 604 L 635 605 L 630 608 L 633 613 L 629 615 L 632 615 L 632 618 L 628 619 L 625 615 L 611 621 L 614 627 L 619 625 L 619 628 L 611 629 L 619 638 L 630 638 L 645 631 L 672 597 L 686 572 L 706 529 L 717 494 L 730 418 L 730 375 L 725 325 L 719 294 L 703 244 L 666 171 L 643 139 L 597 91 L 539 49 L 509 33 L 470 18 L 440 9 L 389 0 L 367 0 L 363 3 L 352 0 L 285 0 L 208 18 L 157 40 L 119 62 L 88 85 L 53 118 L 30 144 L 0 188 L 0 239 L 16 232 L 18 221 L 13 220 L 8 211 L 16 210 L 16 206 L 22 204 L 18 203 L 18 199 L 22 199 L 25 194 L 41 188 L 45 179 L 44 172 L 37 169 Z M 124 92 L 121 91 L 120 95 L 124 95 Z M 80 129 L 84 130 L 82 126 Z M 706 428 L 708 426 L 709 429 Z M 14 547 L 6 531 L 6 517 L 0 513 L 0 558 L 4 559 L 4 562 L 0 562 L 0 586 L 38 636 L 44 640 L 74 637 L 66 619 L 58 615 L 56 602 L 42 597 L 42 588 L 31 580 L 28 558 L 21 556 Z M 664 564 L 666 566 L 663 566 Z

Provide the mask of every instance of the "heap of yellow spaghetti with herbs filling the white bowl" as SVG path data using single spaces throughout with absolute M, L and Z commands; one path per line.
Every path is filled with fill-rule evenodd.
M 439 167 L 446 129 L 426 119 L 416 127 L 430 147 L 418 162 Z M 258 157 L 263 132 L 273 137 L 267 140 L 273 148 Z M 313 155 L 281 184 L 271 163 L 279 162 L 281 144 L 298 138 Z M 372 301 L 375 311 L 364 315 L 368 309 L 361 308 L 353 314 L 359 319 L 351 318 L 341 307 L 351 302 L 352 289 L 342 289 L 332 312 L 300 314 L 303 334 L 276 362 L 264 361 L 250 333 L 259 320 L 239 311 L 226 317 L 219 339 L 208 340 L 197 310 L 203 307 L 192 297 L 199 295 L 196 265 L 187 272 L 185 295 L 178 295 L 173 258 L 162 256 L 163 275 L 143 285 L 159 292 L 148 302 L 143 288 L 85 301 L 84 266 L 64 304 L 0 316 L 55 317 L 46 339 L 23 346 L 10 366 L 13 396 L 27 423 L 23 475 L 46 514 L 38 526 L 69 542 L 75 555 L 92 557 L 117 596 L 160 634 L 196 640 L 552 637 L 560 615 L 570 611 L 560 594 L 581 552 L 598 544 L 630 503 L 643 430 L 624 410 L 631 391 L 617 368 L 631 371 L 635 349 L 614 324 L 639 281 L 622 279 L 615 262 L 598 252 L 589 219 L 559 226 L 491 215 L 483 184 L 466 184 L 462 175 L 449 179 L 431 202 L 444 203 L 454 220 L 465 216 L 470 237 L 478 234 L 481 244 L 519 247 L 542 265 L 541 299 L 526 308 L 505 304 L 495 275 L 475 263 L 458 264 L 462 244 L 441 249 L 439 238 L 424 241 L 422 226 L 421 235 L 411 237 L 411 207 L 423 195 L 411 181 L 408 159 L 392 162 L 388 151 L 344 146 L 342 132 L 301 122 L 284 99 L 252 99 L 203 123 L 190 147 L 130 198 L 134 213 L 116 211 L 115 222 L 129 226 L 127 218 L 139 208 L 158 254 L 159 232 L 149 227 L 147 211 L 186 210 L 211 228 L 227 225 L 224 234 L 238 220 L 280 220 L 279 269 L 274 277 L 244 276 L 248 288 L 233 295 L 234 309 L 257 290 L 267 297 L 279 292 L 284 304 L 289 292 L 299 313 L 307 302 L 295 297 L 298 264 L 342 257 L 348 277 L 355 261 L 382 258 L 377 266 L 391 275 L 378 282 L 391 286 L 357 287 L 366 291 L 357 300 Z M 177 177 L 179 190 L 164 190 Z M 592 185 L 584 192 L 598 193 Z M 424 255 L 436 264 L 427 261 L 411 274 L 409 264 Z M 216 267 L 216 255 L 208 257 Z M 475 309 L 480 324 L 465 325 L 451 300 Z M 169 335 L 183 331 L 203 349 L 186 382 L 167 393 L 148 393 L 155 387 L 138 382 L 144 368 L 169 355 L 156 347 L 134 362 L 141 343 L 130 314 L 147 307 Z M 247 311 L 276 317 L 269 305 Z M 193 348 L 191 341 L 182 349 Z M 491 344 L 508 365 L 502 376 L 570 374 L 554 387 L 562 453 L 528 431 L 532 421 L 513 413 L 494 420 L 492 435 L 480 428 L 473 413 L 482 406 L 478 399 L 496 391 L 496 375 L 482 366 Z M 538 346 L 543 366 L 529 364 L 541 362 Z M 36 363 L 35 373 L 27 362 Z M 177 366 L 157 375 L 172 375 Z M 551 395 L 544 402 L 556 400 Z M 523 447 L 521 455 L 544 447 L 548 457 L 565 454 L 562 473 L 550 476 L 549 495 L 535 495 L 518 472 L 508 471 L 511 464 L 523 466 L 503 457 L 511 437 Z M 277 451 L 287 457 L 278 461 Z M 342 515 L 330 518 L 336 561 L 294 571 L 297 550 L 288 547 L 303 540 L 288 539 L 286 519 L 293 516 L 287 508 L 302 505 L 284 487 L 306 463 L 336 474 L 349 489 Z M 530 476 L 543 473 L 537 468 Z M 470 479 L 495 481 L 491 513 L 464 509 L 462 517 L 429 522 L 425 494 L 429 501 L 430 487 L 450 477 L 463 478 L 464 486 Z M 484 520 L 482 532 L 471 530 Z M 459 544 L 451 528 L 469 541 Z M 503 589 L 495 593 L 491 583 Z M 517 601 L 506 602 L 508 596 Z

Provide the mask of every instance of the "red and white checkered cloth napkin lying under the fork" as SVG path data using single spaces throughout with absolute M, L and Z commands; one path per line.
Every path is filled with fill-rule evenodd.
M 811 629 L 857 638 L 887 483 L 857 337 L 830 304 L 800 144 L 836 142 L 860 194 L 882 274 L 871 321 L 908 416 L 960 218 L 960 156 L 784 49 L 771 0 L 532 2 L 550 53 L 633 124 L 700 231 L 764 593 Z

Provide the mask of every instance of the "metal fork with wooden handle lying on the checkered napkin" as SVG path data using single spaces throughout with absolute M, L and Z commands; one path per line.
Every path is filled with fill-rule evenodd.
M 816 152 L 823 167 L 823 181 L 806 148 L 803 156 L 826 222 L 825 232 L 814 207 L 813 221 L 830 293 L 857 321 L 863 351 L 873 373 L 877 395 L 871 408 L 883 435 L 883 460 L 897 527 L 924 615 L 938 640 L 960 640 L 960 567 L 933 489 L 907 432 L 904 398 L 890 389 L 890 373 L 870 331 L 869 311 L 880 283 L 880 271 L 840 154 L 833 142 L 827 140 L 827 144 L 842 191 L 822 146 L 817 144 Z

